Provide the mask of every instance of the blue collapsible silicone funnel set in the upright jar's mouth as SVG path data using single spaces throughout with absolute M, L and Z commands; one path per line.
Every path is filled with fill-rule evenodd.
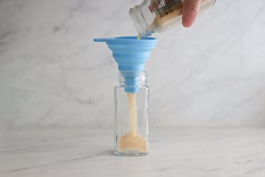
M 145 62 L 150 57 L 150 51 L 155 47 L 158 40 L 155 38 L 141 38 L 136 36 L 117 37 L 117 38 L 97 38 L 95 42 L 106 42 L 112 50 L 112 56 L 118 64 L 119 71 L 143 71 Z M 130 86 L 125 86 L 126 92 L 135 93 L 138 91 L 136 76 L 134 72 L 128 76 Z M 126 80 L 126 78 L 124 78 Z M 134 86 L 131 86 L 131 81 Z M 126 82 L 125 82 L 126 85 Z

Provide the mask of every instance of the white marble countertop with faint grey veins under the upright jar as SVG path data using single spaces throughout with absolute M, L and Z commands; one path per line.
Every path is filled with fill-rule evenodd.
M 148 156 L 114 156 L 112 129 L 8 130 L 0 176 L 265 176 L 265 129 L 153 128 Z

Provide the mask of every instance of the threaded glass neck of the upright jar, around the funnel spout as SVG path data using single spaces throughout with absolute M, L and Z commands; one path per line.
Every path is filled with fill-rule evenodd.
M 126 89 L 146 86 L 146 82 L 146 72 L 143 71 L 120 71 L 118 74 L 118 86 Z

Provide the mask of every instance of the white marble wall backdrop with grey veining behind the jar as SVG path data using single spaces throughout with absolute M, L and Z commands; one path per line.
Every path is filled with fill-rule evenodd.
M 93 38 L 136 35 L 140 2 L 0 0 L 0 127 L 111 127 L 117 66 Z M 154 35 L 151 126 L 265 126 L 264 17 L 264 0 L 219 0 Z

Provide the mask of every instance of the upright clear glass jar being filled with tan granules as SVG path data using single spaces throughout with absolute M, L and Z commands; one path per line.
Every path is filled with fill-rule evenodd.
M 148 100 L 145 72 L 119 72 L 114 88 L 114 154 L 117 156 L 148 154 Z

